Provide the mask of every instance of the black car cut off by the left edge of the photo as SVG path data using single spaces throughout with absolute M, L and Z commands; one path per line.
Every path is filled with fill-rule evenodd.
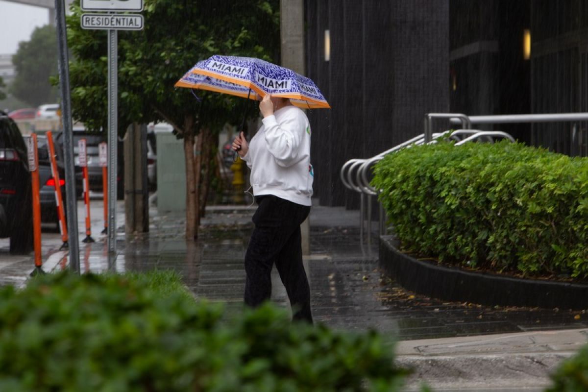
M 14 120 L 0 111 L 0 237 L 11 253 L 32 250 L 31 173 L 25 140 Z

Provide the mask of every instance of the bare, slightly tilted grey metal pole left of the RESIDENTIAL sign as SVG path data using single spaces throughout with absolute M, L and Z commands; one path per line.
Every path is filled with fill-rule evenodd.
M 74 135 L 71 103 L 69 100 L 68 39 L 63 0 L 55 0 L 57 42 L 59 46 L 59 91 L 61 91 L 61 119 L 64 124 L 65 195 L 69 227 L 69 267 L 79 273 L 78 203 L 75 192 Z

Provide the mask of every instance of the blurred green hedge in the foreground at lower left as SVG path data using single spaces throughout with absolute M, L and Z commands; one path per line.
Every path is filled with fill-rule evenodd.
M 62 273 L 0 289 L 0 390 L 393 391 L 406 374 L 375 332 L 292 324 L 269 304 L 231 318 L 151 286 Z

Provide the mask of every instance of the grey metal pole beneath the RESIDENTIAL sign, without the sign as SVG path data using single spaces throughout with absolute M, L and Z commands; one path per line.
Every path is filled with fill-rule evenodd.
M 116 158 L 118 144 L 117 86 L 118 46 L 116 30 L 108 31 L 108 257 L 116 252 Z

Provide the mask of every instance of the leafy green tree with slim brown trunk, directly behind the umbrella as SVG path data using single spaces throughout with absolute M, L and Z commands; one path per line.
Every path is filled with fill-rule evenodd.
M 72 113 L 90 129 L 107 125 L 106 32 L 79 26 L 79 1 L 68 18 Z M 208 174 L 222 125 L 240 123 L 244 99 L 188 89 L 175 82 L 196 62 L 213 54 L 255 56 L 276 61 L 279 55 L 278 0 L 145 0 L 142 31 L 118 33 L 119 134 L 132 122 L 165 121 L 183 138 L 186 166 L 186 238 L 198 235 Z M 257 115 L 249 110 L 249 115 Z M 195 138 L 198 136 L 195 155 Z M 212 155 L 212 156 L 211 156 Z M 211 173 L 212 170 L 204 170 Z

